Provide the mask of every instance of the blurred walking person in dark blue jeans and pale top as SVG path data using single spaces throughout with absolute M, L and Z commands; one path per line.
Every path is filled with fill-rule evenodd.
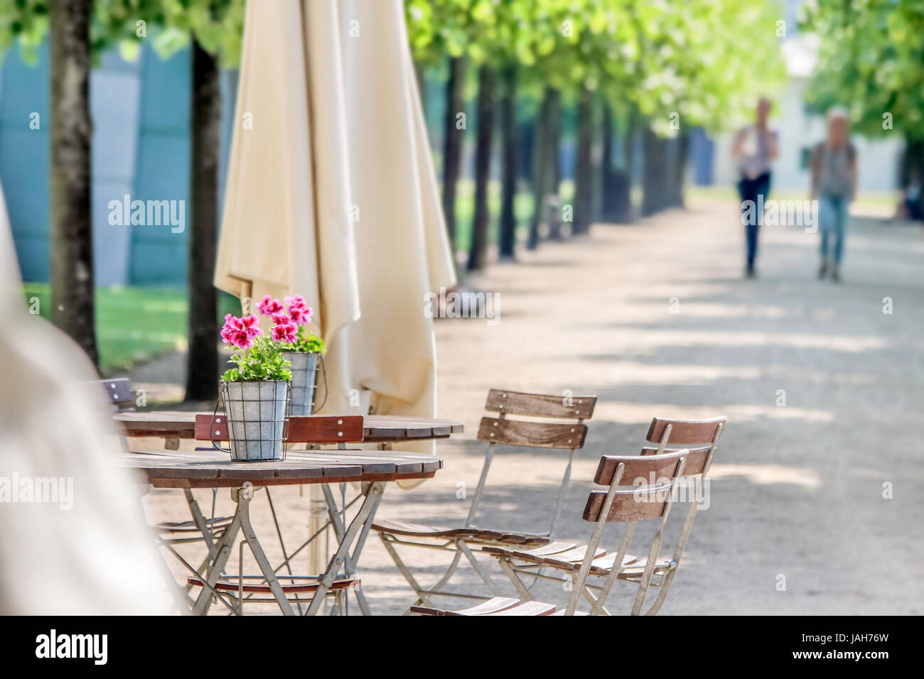
M 761 97 L 757 104 L 757 122 L 737 131 L 732 142 L 732 160 L 737 161 L 740 180 L 741 221 L 745 225 L 747 266 L 745 274 L 753 278 L 757 260 L 757 238 L 763 222 L 763 204 L 770 193 L 772 162 L 779 154 L 777 134 L 767 123 L 772 103 Z M 749 201 L 749 202 L 748 202 Z

